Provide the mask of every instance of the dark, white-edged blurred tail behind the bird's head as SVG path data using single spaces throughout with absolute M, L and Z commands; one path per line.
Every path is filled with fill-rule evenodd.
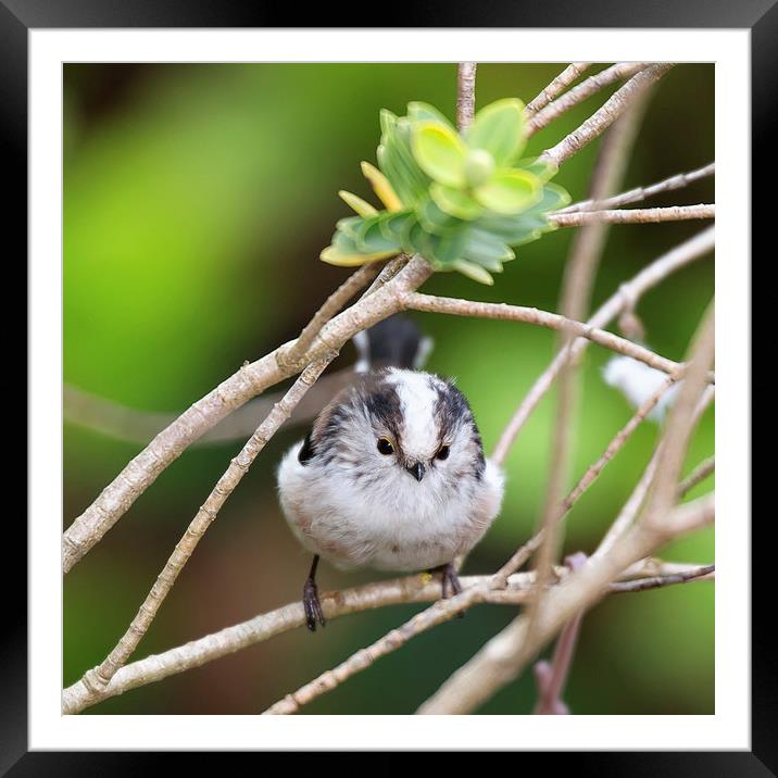
M 401 314 L 357 332 L 353 341 L 359 353 L 354 365 L 357 373 L 378 367 L 422 369 L 434 346 L 430 337 L 424 336 L 412 319 Z

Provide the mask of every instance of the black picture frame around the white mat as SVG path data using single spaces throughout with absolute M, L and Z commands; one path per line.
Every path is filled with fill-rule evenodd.
M 331 4 L 310 7 L 304 12 L 308 27 L 365 26 L 364 16 L 354 25 L 354 15 L 340 14 Z M 417 8 L 404 4 L 403 26 L 421 27 L 645 27 L 645 28 L 741 28 L 751 30 L 752 41 L 752 230 L 756 238 L 765 233 L 768 203 L 757 197 L 756 184 L 775 156 L 775 95 L 778 92 L 778 5 L 776 0 L 547 0 L 520 5 L 511 0 L 480 0 L 455 3 L 435 0 Z M 288 27 L 300 9 L 271 7 L 255 2 L 246 7 L 209 0 L 0 0 L 0 133 L 2 134 L 5 190 L 11 195 L 5 205 L 5 224 L 18 237 L 18 252 L 26 253 L 27 233 L 27 49 L 30 28 L 102 28 L 102 27 Z M 376 26 L 394 26 L 376 20 Z M 8 236 L 10 237 L 10 235 Z M 8 243 L 7 237 L 7 243 Z M 766 241 L 761 241 L 767 244 Z M 773 252 L 769 252 L 770 254 Z M 10 252 L 9 252 L 10 255 Z M 764 260 L 768 261 L 768 256 Z M 746 258 L 728 258 L 745 262 Z M 10 287 L 7 287 L 10 289 Z M 28 419 L 35 407 L 28 406 Z M 7 548 L 22 548 L 25 526 L 17 515 L 7 515 L 3 530 Z M 731 517 L 736 520 L 736 517 Z M 574 765 L 576 773 L 597 771 L 610 775 L 651 776 L 767 776 L 778 775 L 778 688 L 776 683 L 776 640 L 769 613 L 773 612 L 771 565 L 766 519 L 754 523 L 753 618 L 752 629 L 752 750 L 750 752 L 625 752 L 543 754 L 547 769 L 560 760 Z M 746 526 L 748 516 L 740 517 Z M 762 542 L 760 542 L 762 541 Z M 762 559 L 760 559 L 762 557 Z M 24 564 L 24 563 L 22 563 Z M 17 592 L 18 570 L 1 566 L 9 582 L 3 588 L 3 629 L 0 635 L 0 775 L 123 775 L 148 769 L 148 755 L 141 753 L 28 752 L 27 748 L 27 611 Z M 14 611 L 15 608 L 15 611 Z M 178 758 L 178 756 L 176 756 Z M 527 769 L 520 756 L 517 769 Z M 146 766 L 142 766 L 145 763 Z M 160 769 L 160 755 L 154 756 Z

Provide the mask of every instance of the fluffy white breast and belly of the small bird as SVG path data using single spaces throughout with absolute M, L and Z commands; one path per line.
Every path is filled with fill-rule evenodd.
M 422 389 L 406 382 L 401 392 Z M 399 467 L 355 477 L 315 460 L 302 465 L 301 446 L 278 468 L 281 507 L 300 542 L 338 567 L 410 572 L 447 564 L 481 539 L 500 510 L 503 474 L 488 460 L 479 479 L 449 486 L 434 469 L 418 482 Z

